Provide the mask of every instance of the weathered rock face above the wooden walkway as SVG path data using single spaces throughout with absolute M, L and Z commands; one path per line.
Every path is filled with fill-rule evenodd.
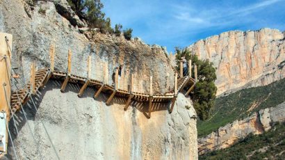
M 31 62 L 35 61 L 39 68 L 49 67 L 49 48 L 53 44 L 56 46 L 56 70 L 67 70 L 67 52 L 71 49 L 72 74 L 86 77 L 87 58 L 92 56 L 92 79 L 104 81 L 103 69 L 107 65 L 108 78 L 105 80 L 112 84 L 114 68 L 122 65 L 121 89 L 127 90 L 131 74 L 134 74 L 136 92 L 149 92 L 150 76 L 153 77 L 154 94 L 172 90 L 174 70 L 163 47 L 149 47 L 138 38 L 125 40 L 123 36 L 101 34 L 96 30 L 82 34 L 78 26 L 73 26 L 58 13 L 54 3 L 60 2 L 38 1 L 33 10 L 29 10 L 24 2 L 0 1 L 0 22 L 3 22 L 0 29 L 13 34 L 13 67 L 19 67 L 16 72 L 24 75 L 19 85 L 29 81 L 29 72 L 24 73 L 23 69 L 29 70 Z M 65 7 L 64 2 L 60 3 L 61 8 Z

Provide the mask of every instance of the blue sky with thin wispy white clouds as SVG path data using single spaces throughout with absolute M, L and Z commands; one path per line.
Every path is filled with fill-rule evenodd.
M 112 25 L 168 51 L 231 30 L 285 31 L 285 0 L 102 0 Z

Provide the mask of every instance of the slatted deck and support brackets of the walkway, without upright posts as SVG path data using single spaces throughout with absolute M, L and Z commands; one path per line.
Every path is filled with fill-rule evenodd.
M 32 77 L 33 77 L 33 73 Z M 31 78 L 31 81 L 33 78 Z M 170 102 L 172 101 L 175 96 L 177 96 L 174 93 L 174 89 L 171 90 L 169 93 L 165 93 L 165 95 L 149 95 L 147 93 L 136 93 L 131 92 L 131 90 L 121 90 L 116 89 L 113 86 L 109 86 L 108 84 L 105 84 L 101 81 L 97 81 L 95 79 L 88 79 L 85 77 L 79 77 L 74 74 L 67 74 L 66 72 L 59 72 L 54 71 L 51 72 L 50 68 L 44 68 L 38 71 L 35 71 L 35 87 L 31 88 L 33 86 L 31 82 L 27 84 L 24 88 L 20 90 L 16 90 L 11 95 L 11 107 L 13 113 L 15 113 L 17 110 L 20 109 L 21 106 L 26 104 L 26 102 L 29 100 L 29 93 L 30 90 L 33 90 L 32 94 L 36 94 L 37 91 L 43 87 L 49 79 L 57 79 L 60 81 L 63 81 L 63 86 L 61 86 L 60 90 L 64 92 L 65 87 L 67 86 L 67 83 L 77 83 L 82 85 L 81 90 L 78 93 L 78 96 L 81 97 L 83 95 L 84 90 L 89 87 L 94 87 L 97 89 L 97 92 L 94 95 L 94 98 L 96 99 L 101 92 L 108 93 L 110 97 L 108 97 L 106 104 L 110 104 L 114 96 L 118 97 L 124 97 L 127 100 L 127 104 L 125 105 L 124 109 L 126 110 L 129 106 L 131 100 L 138 101 L 138 102 Z M 33 82 L 32 82 L 33 83 Z M 195 79 L 190 77 L 183 77 L 177 79 L 177 90 L 182 90 L 185 86 L 194 86 L 195 85 Z M 19 98 L 18 98 L 19 97 Z M 174 103 L 174 102 L 172 102 Z M 172 109 L 171 109 L 172 111 Z M 171 112 L 170 111 L 170 112 Z M 150 117 L 150 115 L 149 115 Z

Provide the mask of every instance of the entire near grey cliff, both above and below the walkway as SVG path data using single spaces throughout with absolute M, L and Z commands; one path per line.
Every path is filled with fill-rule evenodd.
M 86 77 L 87 57 L 92 56 L 92 79 L 104 81 L 102 70 L 107 65 L 107 83 L 111 84 L 113 69 L 122 65 L 122 89 L 127 89 L 131 74 L 136 92 L 149 92 L 150 76 L 154 94 L 174 86 L 174 71 L 163 47 L 146 45 L 138 38 L 128 41 L 97 30 L 86 31 L 65 0 L 38 1 L 35 5 L 30 0 L 0 1 L 0 22 L 1 32 L 13 34 L 12 65 L 19 67 L 15 69 L 21 74 L 19 88 L 29 81 L 31 62 L 38 68 L 49 67 L 51 44 L 56 45 L 56 70 L 66 70 L 67 51 L 71 49 L 72 74 Z M 56 159 L 42 123 L 62 159 L 197 159 L 195 111 L 183 95 L 179 95 L 172 114 L 167 111 L 169 104 L 154 104 L 157 111 L 148 120 L 145 104 L 133 103 L 124 112 L 125 99 L 115 98 L 106 106 L 107 95 L 95 101 L 92 88 L 78 98 L 80 86 L 69 84 L 64 94 L 59 86 L 60 82 L 51 81 L 40 91 L 35 97 L 37 112 L 31 102 L 24 106 L 27 122 L 22 112 L 17 113 L 19 134 L 10 121 L 21 159 Z M 8 158 L 15 159 L 12 146 L 8 152 Z

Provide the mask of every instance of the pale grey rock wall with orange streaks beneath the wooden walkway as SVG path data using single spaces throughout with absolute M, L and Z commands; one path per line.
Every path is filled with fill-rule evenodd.
M 115 97 L 106 106 L 106 95 L 95 101 L 92 88 L 78 98 L 78 86 L 69 83 L 66 93 L 60 86 L 47 83 L 34 98 L 38 111 L 31 102 L 24 106 L 32 132 L 22 113 L 16 115 L 19 134 L 10 125 L 19 159 L 56 159 L 44 127 L 61 159 L 197 159 L 196 114 L 184 95 L 178 95 L 172 114 L 165 107 L 170 104 L 155 104 L 157 111 L 147 119 L 147 104 L 132 103 L 124 111 L 125 99 Z M 11 146 L 8 151 L 15 158 Z

